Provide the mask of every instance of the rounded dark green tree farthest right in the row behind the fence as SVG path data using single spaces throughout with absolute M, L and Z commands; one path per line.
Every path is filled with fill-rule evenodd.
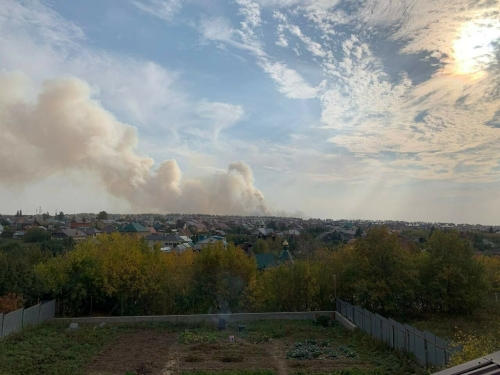
M 435 231 L 420 264 L 421 304 L 427 311 L 471 313 L 485 301 L 483 264 L 457 231 Z

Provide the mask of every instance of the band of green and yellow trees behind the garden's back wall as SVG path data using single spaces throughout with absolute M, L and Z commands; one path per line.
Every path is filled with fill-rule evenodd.
M 57 298 L 65 315 L 330 310 L 335 295 L 386 315 L 469 314 L 500 291 L 500 259 L 476 256 L 458 233 L 435 231 L 408 250 L 385 228 L 263 272 L 232 243 L 165 254 L 120 234 L 62 254 L 0 253 L 0 266 L 0 294 Z

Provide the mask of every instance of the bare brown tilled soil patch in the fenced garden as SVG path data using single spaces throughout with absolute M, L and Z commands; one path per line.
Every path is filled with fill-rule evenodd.
M 174 375 L 184 370 L 274 370 L 277 375 L 322 372 L 369 363 L 349 358 L 286 359 L 284 340 L 179 344 L 178 334 L 141 330 L 119 336 L 87 365 L 89 375 Z

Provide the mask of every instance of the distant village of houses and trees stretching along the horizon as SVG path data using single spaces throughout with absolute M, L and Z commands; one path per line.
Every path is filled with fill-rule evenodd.
M 293 256 L 319 247 L 352 245 L 365 237 L 370 228 L 380 226 L 397 233 L 405 249 L 421 247 L 434 230 L 456 230 L 471 240 L 478 253 L 500 255 L 500 243 L 495 240 L 500 226 L 236 215 L 120 215 L 105 211 L 71 215 L 59 212 L 51 216 L 41 211 L 40 208 L 35 215 L 23 215 L 22 210 L 15 215 L 0 215 L 0 235 L 22 241 L 30 230 L 38 230 L 45 232 L 45 239 L 62 241 L 71 247 L 86 240 L 98 241 L 103 234 L 120 233 L 139 236 L 151 248 L 156 246 L 162 252 L 177 254 L 186 250 L 199 252 L 218 243 L 226 248 L 233 242 L 247 255 L 256 257 L 259 270 L 293 261 Z M 488 235 L 493 235 L 494 240 L 488 239 Z

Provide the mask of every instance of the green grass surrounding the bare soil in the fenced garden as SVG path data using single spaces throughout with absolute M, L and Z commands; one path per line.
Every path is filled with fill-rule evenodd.
M 87 363 L 103 349 L 123 334 L 140 330 L 176 333 L 177 345 L 195 349 L 203 347 L 211 350 L 213 345 L 226 345 L 229 335 L 243 339 L 248 348 L 248 355 L 260 357 L 266 354 L 275 341 L 283 348 L 283 360 L 286 353 L 297 349 L 321 352 L 318 356 L 325 359 L 343 359 L 346 362 L 341 372 L 315 373 L 307 368 L 308 359 L 296 359 L 289 355 L 286 359 L 291 372 L 301 374 L 335 375 L 400 375 L 423 374 L 424 370 L 415 361 L 404 354 L 395 352 L 383 343 L 361 332 L 349 332 L 332 323 L 331 327 L 315 325 L 310 321 L 259 321 L 245 324 L 243 331 L 238 331 L 238 324 L 228 324 L 227 330 L 218 331 L 216 325 L 174 325 L 171 323 L 113 324 L 103 327 L 81 325 L 77 330 L 68 330 L 66 324 L 43 324 L 13 334 L 0 341 L 0 375 L 83 375 Z M 203 353 L 203 350 L 201 353 Z M 245 349 L 247 350 L 247 349 Z M 250 352 L 251 351 L 251 352 Z M 244 364 L 241 352 L 231 349 L 221 351 L 221 362 Z M 314 357 L 313 356 L 313 357 Z M 317 356 L 317 357 L 318 357 Z M 299 355 L 300 357 L 300 355 Z M 316 357 L 316 358 L 317 358 Z M 186 357 L 187 363 L 201 362 L 195 352 Z M 319 359 L 321 359 L 320 357 Z M 242 363 L 243 362 L 243 363 Z M 300 366 L 294 366 L 294 365 Z M 269 370 L 219 371 L 226 375 L 271 375 Z M 215 372 L 196 370 L 184 371 L 185 375 L 211 375 Z

